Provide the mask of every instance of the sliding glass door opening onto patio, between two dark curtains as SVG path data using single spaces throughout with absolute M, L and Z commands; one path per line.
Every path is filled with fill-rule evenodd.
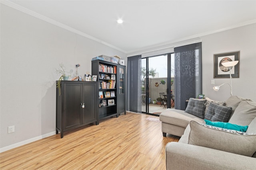
M 171 56 L 174 58 L 173 54 L 166 54 L 142 59 L 142 113 L 159 115 L 171 107 L 171 82 L 174 79 L 174 62 Z

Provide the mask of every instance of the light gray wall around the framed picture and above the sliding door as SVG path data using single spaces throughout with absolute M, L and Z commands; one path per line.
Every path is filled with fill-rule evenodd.
M 202 41 L 202 81 L 205 97 L 219 101 L 225 101 L 230 97 L 229 86 L 221 86 L 218 92 L 212 89 L 213 86 L 230 83 L 229 78 L 213 78 L 214 54 L 240 51 L 240 77 L 232 79 L 233 95 L 256 101 L 256 23 L 164 45 L 158 49 L 144 49 L 129 53 L 128 57 L 136 54 L 149 57 L 173 53 L 175 46 L 196 41 Z M 215 80 L 215 84 L 211 84 L 211 80 Z

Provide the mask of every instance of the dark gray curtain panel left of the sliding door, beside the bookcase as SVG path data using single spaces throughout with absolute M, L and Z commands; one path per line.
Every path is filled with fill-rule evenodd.
M 127 58 L 127 111 L 141 113 L 141 55 Z

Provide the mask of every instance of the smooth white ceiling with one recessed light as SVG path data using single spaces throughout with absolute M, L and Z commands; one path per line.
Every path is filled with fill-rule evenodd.
M 256 0 L 10 0 L 1 3 L 124 53 L 256 23 Z M 116 22 L 119 18 L 124 21 L 122 24 Z

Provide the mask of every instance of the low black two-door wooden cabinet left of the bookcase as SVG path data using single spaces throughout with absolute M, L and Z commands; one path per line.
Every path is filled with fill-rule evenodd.
M 58 83 L 58 82 L 57 82 Z M 56 89 L 56 134 L 90 123 L 98 124 L 97 82 L 61 81 Z

